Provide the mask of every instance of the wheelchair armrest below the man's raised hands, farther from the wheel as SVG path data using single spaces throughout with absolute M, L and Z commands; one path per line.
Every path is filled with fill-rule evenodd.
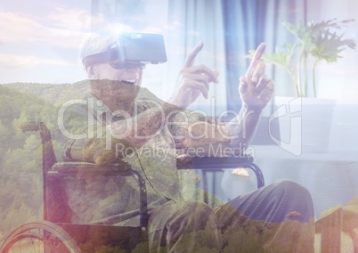
M 204 169 L 221 170 L 224 168 L 248 167 L 256 175 L 257 188 L 264 186 L 264 175 L 261 169 L 256 165 L 252 156 L 244 155 L 238 157 L 189 157 L 185 155 L 178 156 L 178 169 Z

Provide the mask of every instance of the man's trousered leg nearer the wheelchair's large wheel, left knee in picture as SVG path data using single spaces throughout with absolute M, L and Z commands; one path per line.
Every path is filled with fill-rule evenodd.
M 150 252 L 219 252 L 221 232 L 207 204 L 183 201 L 151 211 Z

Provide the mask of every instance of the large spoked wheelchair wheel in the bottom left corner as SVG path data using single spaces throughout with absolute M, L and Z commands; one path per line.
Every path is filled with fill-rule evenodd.
M 5 239 L 1 253 L 78 253 L 77 244 L 59 225 L 42 221 L 20 225 Z

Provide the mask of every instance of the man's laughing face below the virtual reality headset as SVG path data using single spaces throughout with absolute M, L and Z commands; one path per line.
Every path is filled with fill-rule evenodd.
M 123 104 L 134 101 L 142 85 L 143 70 L 137 65 L 131 64 L 121 69 L 114 69 L 110 63 L 101 63 L 88 68 L 91 68 L 87 69 L 90 79 L 112 81 L 101 82 L 93 91 L 110 110 L 121 110 Z

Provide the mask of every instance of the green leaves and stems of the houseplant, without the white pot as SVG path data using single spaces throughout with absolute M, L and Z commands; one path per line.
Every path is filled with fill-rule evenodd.
M 297 37 L 297 42 L 276 47 L 274 53 L 263 55 L 263 61 L 280 66 L 289 73 L 297 96 L 307 95 L 307 88 L 313 86 L 313 97 L 317 97 L 315 72 L 317 64 L 323 60 L 330 62 L 338 61 L 342 58 L 341 53 L 346 48 L 355 48 L 353 39 L 344 39 L 344 34 L 338 35 L 336 31 L 354 20 L 323 20 L 318 23 L 313 21 L 304 25 L 302 22 L 298 26 L 282 20 L 285 29 Z M 298 52 L 297 52 L 298 51 Z M 249 51 L 248 57 L 252 57 L 255 51 Z M 298 53 L 298 57 L 294 57 Z M 296 55 L 297 56 L 297 55 Z M 313 58 L 312 80 L 308 79 L 309 68 L 307 61 Z

